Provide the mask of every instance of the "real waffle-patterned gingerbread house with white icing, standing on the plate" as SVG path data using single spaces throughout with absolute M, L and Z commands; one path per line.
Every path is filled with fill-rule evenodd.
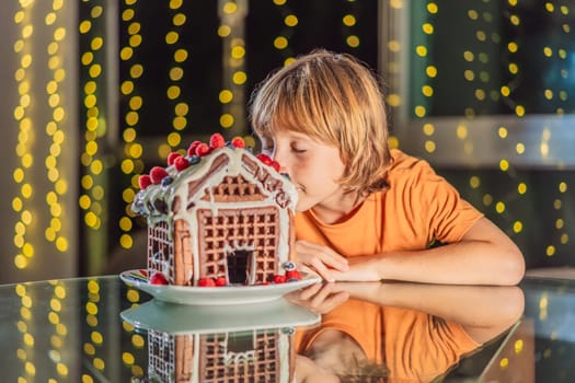
M 148 217 L 148 271 L 170 285 L 256 285 L 284 275 L 294 243 L 297 192 L 249 150 L 223 147 L 166 167 L 161 183 L 138 193 Z

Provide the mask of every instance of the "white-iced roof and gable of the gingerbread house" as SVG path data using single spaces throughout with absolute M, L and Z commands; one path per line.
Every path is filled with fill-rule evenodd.
M 136 195 L 133 211 L 153 223 L 166 220 L 175 202 L 187 207 L 202 200 L 214 206 L 238 200 L 256 204 L 263 196 L 280 208 L 294 210 L 296 207 L 295 186 L 250 150 L 222 147 L 202 158 L 188 158 L 188 161 L 189 165 L 183 170 L 175 165 L 165 167 L 160 183 L 148 185 Z M 235 182 L 230 182 L 232 178 Z

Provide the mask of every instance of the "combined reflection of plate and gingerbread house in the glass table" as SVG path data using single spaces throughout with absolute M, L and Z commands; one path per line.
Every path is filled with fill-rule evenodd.
M 321 318 L 284 299 L 241 307 L 153 300 L 120 315 L 147 330 L 151 382 L 292 382 L 296 326 Z

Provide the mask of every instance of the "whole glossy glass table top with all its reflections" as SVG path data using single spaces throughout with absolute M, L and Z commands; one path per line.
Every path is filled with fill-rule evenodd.
M 2 382 L 574 382 L 575 281 L 317 283 L 176 304 L 117 276 L 0 286 Z

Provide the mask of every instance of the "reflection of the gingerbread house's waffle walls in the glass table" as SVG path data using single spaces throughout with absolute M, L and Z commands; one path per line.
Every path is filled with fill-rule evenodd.
M 291 332 L 170 335 L 148 330 L 148 374 L 160 382 L 291 383 Z

